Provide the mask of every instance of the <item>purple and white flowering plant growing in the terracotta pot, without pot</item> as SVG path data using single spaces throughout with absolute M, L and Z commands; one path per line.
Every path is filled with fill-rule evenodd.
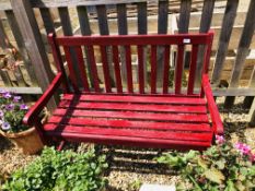
M 27 130 L 30 127 L 22 123 L 27 109 L 21 96 L 0 89 L 0 130 L 8 133 Z

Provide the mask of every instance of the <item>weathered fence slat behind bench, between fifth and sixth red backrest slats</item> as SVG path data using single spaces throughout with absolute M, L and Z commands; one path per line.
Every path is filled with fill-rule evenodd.
M 118 21 L 118 34 L 127 35 L 127 8 L 126 4 L 117 4 L 117 21 Z M 127 83 L 127 70 L 126 70 L 126 57 L 125 47 L 119 47 L 120 62 L 121 62 L 121 79 L 124 83 Z

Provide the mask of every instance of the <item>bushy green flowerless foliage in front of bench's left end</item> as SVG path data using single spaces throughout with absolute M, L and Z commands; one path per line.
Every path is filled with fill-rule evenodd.
M 40 157 L 15 171 L 3 186 L 3 191 L 98 191 L 106 181 L 105 156 L 91 150 L 78 154 L 46 147 Z

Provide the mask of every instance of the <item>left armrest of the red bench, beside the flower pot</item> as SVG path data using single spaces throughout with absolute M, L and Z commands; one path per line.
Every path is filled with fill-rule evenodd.
M 44 109 L 44 107 L 47 105 L 49 99 L 55 94 L 56 89 L 60 86 L 62 77 L 63 75 L 61 72 L 59 72 L 55 76 L 51 84 L 48 86 L 48 88 L 45 91 L 42 97 L 35 103 L 35 105 L 32 108 L 30 108 L 28 112 L 25 115 L 23 119 L 24 124 L 33 126 L 36 122 L 39 112 Z

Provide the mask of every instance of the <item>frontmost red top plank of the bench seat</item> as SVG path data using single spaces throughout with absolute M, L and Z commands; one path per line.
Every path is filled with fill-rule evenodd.
M 44 129 L 47 132 L 69 132 L 78 134 L 102 134 L 114 136 L 129 136 L 131 138 L 147 138 L 149 139 L 162 139 L 162 140 L 179 140 L 179 141 L 211 141 L 212 133 L 190 133 L 190 132 L 162 132 L 162 131 L 147 131 L 147 130 L 130 130 L 130 129 L 113 129 L 113 128 L 95 128 L 95 127 L 78 127 L 78 126 L 59 126 L 59 124 L 46 124 Z M 58 130 L 59 129 L 59 130 Z

